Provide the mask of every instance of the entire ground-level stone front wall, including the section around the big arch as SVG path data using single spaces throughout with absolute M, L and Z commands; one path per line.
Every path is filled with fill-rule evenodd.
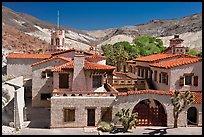
M 52 97 L 51 98 L 51 128 L 55 127 L 85 127 L 87 126 L 87 108 L 95 109 L 95 125 L 101 118 L 101 107 L 112 107 L 112 122 L 120 124 L 115 114 L 122 108 L 134 107 L 142 100 L 154 99 L 164 107 L 167 115 L 167 127 L 173 127 L 173 105 L 170 95 L 137 94 L 115 97 Z M 198 111 L 198 125 L 202 125 L 202 104 L 192 104 Z M 189 107 L 191 107 L 189 106 Z M 63 122 L 63 108 L 75 108 L 75 121 Z M 180 113 L 178 126 L 187 126 L 187 110 Z

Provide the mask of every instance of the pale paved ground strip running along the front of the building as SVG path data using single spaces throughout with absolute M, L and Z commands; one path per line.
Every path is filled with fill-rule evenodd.
M 3 132 L 3 135 L 11 133 Z M 84 132 L 83 128 L 23 128 L 13 135 L 202 135 L 202 127 L 137 127 L 132 132 Z

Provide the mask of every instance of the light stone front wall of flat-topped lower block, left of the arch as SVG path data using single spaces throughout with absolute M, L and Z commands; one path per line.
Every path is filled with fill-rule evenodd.
M 95 109 L 95 125 L 101 119 L 101 107 L 110 107 L 115 97 L 52 97 L 51 128 L 87 126 L 87 108 Z M 75 121 L 64 122 L 63 108 L 75 108 Z

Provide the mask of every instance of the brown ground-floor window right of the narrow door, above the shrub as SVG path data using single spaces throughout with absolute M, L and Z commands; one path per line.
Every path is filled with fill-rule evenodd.
M 106 122 L 112 121 L 112 108 L 110 107 L 101 108 L 101 121 L 106 121 Z

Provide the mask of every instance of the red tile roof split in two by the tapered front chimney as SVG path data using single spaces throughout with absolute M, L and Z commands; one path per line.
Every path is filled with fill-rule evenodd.
M 66 64 L 61 65 L 61 66 L 55 67 L 52 69 L 52 71 L 53 72 L 63 72 L 64 69 L 74 69 L 74 62 L 70 61 Z M 84 69 L 85 70 L 114 70 L 115 67 L 85 61 L 84 62 Z

